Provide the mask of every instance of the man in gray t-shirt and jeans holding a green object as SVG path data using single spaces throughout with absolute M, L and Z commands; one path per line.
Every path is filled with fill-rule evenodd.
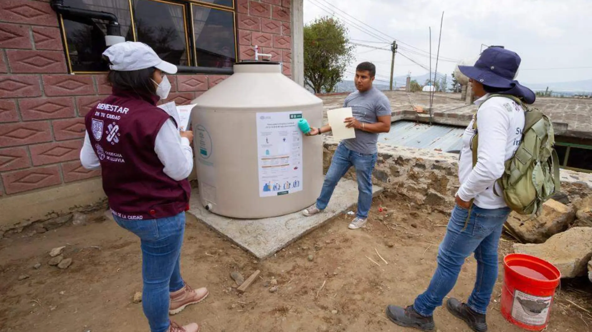
M 358 213 L 349 229 L 365 227 L 372 204 L 372 170 L 377 159 L 378 134 L 391 129 L 391 105 L 387 96 L 372 86 L 375 74 L 376 67 L 369 62 L 356 68 L 354 82 L 358 91 L 346 97 L 343 103 L 343 107 L 352 108 L 353 117 L 345 119 L 345 123 L 355 129 L 356 137 L 344 139 L 337 146 L 317 203 L 303 211 L 305 216 L 317 214 L 327 207 L 337 182 L 353 166 L 358 180 Z M 307 135 L 330 131 L 329 125 L 313 127 Z

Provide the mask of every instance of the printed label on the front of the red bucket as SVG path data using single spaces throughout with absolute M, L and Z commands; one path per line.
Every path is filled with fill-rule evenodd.
M 551 308 L 552 300 L 552 296 L 537 297 L 516 291 L 514 292 L 512 317 L 528 325 L 544 325 L 549 317 L 549 308 Z

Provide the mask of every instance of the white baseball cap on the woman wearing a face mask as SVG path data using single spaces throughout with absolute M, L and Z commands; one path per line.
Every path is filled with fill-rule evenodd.
M 111 70 L 131 71 L 155 67 L 169 74 L 177 72 L 177 66 L 162 60 L 150 46 L 137 41 L 114 44 L 103 52 L 103 56 L 111 61 Z

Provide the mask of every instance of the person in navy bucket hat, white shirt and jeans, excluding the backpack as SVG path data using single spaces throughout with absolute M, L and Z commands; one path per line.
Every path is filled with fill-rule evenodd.
M 432 281 L 413 305 L 406 308 L 388 305 L 387 317 L 395 324 L 422 331 L 435 330 L 433 312 L 456 284 L 465 258 L 477 259 L 475 287 L 466 302 L 446 301 L 446 309 L 477 332 L 487 331 L 485 314 L 497 279 L 497 248 L 510 208 L 496 180 L 504 171 L 520 144 L 525 125 L 522 103 L 535 102 L 535 93 L 515 80 L 520 57 L 503 47 L 490 47 L 481 53 L 475 66 L 459 66 L 469 77 L 478 105 L 479 119 L 477 164 L 473 167 L 471 140 L 477 129 L 473 121 L 462 136 L 456 192 L 456 205 L 440 243 L 437 268 Z M 494 95 L 495 94 L 495 95 Z M 501 95 L 501 96 L 500 96 Z M 504 96 L 510 95 L 510 96 Z M 520 99 L 517 103 L 511 96 Z M 498 186 L 494 190 L 495 186 Z

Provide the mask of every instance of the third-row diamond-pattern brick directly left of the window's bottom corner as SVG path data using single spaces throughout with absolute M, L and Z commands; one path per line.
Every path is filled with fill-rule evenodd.
M 66 73 L 62 51 L 7 50 L 12 73 Z

